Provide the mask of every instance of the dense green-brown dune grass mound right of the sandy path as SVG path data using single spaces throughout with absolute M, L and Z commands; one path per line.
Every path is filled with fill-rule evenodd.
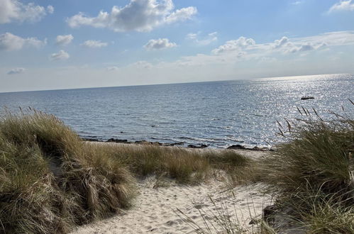
M 288 143 L 263 162 L 278 213 L 309 233 L 354 233 L 354 121 L 335 117 L 289 127 Z

